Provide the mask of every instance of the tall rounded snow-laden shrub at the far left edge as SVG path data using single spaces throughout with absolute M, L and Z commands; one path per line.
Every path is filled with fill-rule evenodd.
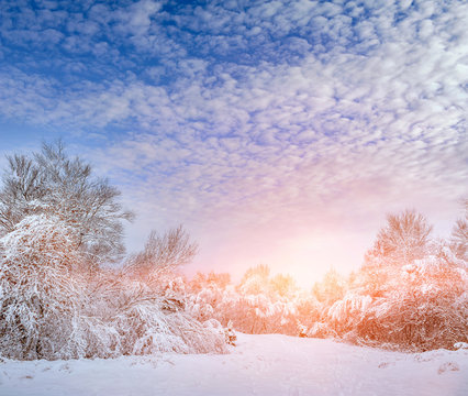
M 74 358 L 74 326 L 85 304 L 76 240 L 60 219 L 30 216 L 0 240 L 0 353 Z

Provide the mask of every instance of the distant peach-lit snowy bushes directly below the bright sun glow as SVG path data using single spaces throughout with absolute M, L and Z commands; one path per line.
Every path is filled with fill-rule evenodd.
M 225 276 L 198 274 L 187 293 L 187 307 L 199 320 L 232 321 L 246 333 L 297 334 L 298 319 L 313 315 L 309 302 L 290 276 L 270 278 L 265 265 L 249 268 L 235 286 Z

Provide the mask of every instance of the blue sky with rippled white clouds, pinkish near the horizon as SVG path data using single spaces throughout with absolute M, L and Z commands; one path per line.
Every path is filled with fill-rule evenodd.
M 0 1 L 0 166 L 62 138 L 186 271 L 312 285 L 468 196 L 466 1 Z

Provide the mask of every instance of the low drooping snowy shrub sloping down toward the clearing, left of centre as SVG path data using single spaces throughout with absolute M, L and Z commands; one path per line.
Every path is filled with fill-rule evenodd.
M 109 286 L 108 286 L 109 287 Z M 122 354 L 224 352 L 223 333 L 193 318 L 178 299 L 124 278 L 101 290 L 107 321 L 119 333 Z

